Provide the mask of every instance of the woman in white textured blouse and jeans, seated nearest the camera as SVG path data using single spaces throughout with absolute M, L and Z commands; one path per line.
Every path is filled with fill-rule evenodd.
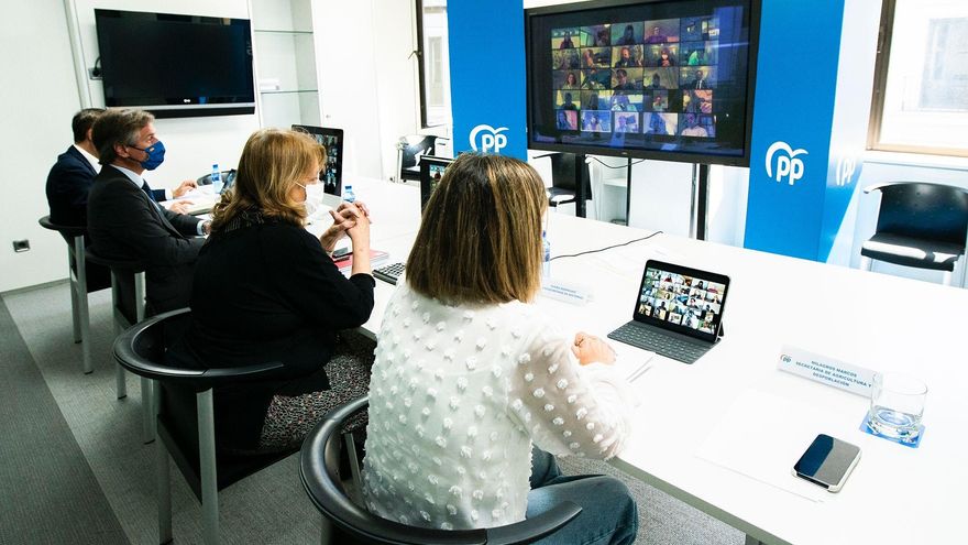
M 563 477 L 551 456 L 617 454 L 631 395 L 605 341 L 565 337 L 527 304 L 540 288 L 547 207 L 535 170 L 499 155 L 461 155 L 431 195 L 377 338 L 370 511 L 459 530 L 571 500 L 582 513 L 540 543 L 635 541 L 628 489 L 610 477 Z

